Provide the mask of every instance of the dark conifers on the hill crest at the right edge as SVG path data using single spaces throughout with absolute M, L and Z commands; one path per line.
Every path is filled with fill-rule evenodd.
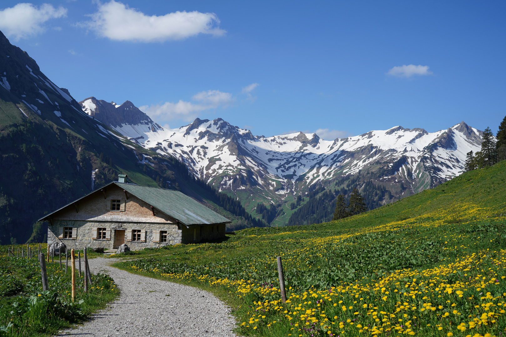
M 492 130 L 487 127 L 483 131 L 481 151 L 474 154 L 473 151 L 470 151 L 466 154 L 466 172 L 492 166 L 506 159 L 506 116 L 499 124 L 495 139 Z

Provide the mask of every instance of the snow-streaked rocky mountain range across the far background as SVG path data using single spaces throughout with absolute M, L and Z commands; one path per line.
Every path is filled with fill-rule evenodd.
M 459 175 L 466 153 L 480 150 L 482 135 L 465 122 L 431 133 L 396 126 L 334 140 L 303 132 L 255 136 L 221 118 L 197 118 L 177 129 L 147 116 L 109 125 L 144 148 L 184 161 L 195 176 L 230 190 L 249 209 L 261 201 L 292 201 L 316 184 L 339 187 L 359 172 L 395 198 L 412 195 Z

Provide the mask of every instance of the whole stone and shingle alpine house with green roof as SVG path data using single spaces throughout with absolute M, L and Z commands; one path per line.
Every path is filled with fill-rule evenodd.
M 225 237 L 231 221 L 180 191 L 119 180 L 39 219 L 49 223 L 48 244 L 139 250 Z

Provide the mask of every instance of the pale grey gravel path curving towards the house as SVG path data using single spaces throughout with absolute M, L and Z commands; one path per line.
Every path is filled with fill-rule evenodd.
M 106 272 L 114 279 L 120 298 L 59 336 L 236 336 L 230 308 L 214 295 L 110 266 L 117 261 L 96 258 L 89 263 L 92 273 Z

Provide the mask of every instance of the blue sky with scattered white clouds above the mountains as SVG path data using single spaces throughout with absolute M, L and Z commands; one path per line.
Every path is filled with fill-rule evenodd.
M 129 100 L 160 125 L 333 139 L 462 120 L 495 133 L 506 115 L 504 2 L 31 4 L 0 4 L 11 43 L 77 101 Z

